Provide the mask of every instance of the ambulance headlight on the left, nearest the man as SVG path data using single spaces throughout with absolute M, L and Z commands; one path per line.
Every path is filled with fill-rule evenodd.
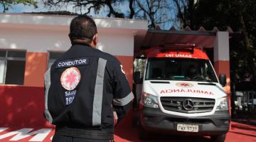
M 148 94 L 148 93 L 144 93 L 142 94 L 142 104 L 144 105 L 144 107 L 151 107 L 151 108 L 159 108 L 159 105 L 157 103 L 157 97 L 152 95 L 152 94 Z

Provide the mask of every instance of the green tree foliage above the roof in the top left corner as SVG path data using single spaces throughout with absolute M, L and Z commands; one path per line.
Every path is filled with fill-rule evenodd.
M 8 9 L 15 4 L 34 6 L 35 8 L 38 7 L 38 3 L 35 0 L 0 0 L 0 6 L 3 7 L 3 13 L 8 11 Z

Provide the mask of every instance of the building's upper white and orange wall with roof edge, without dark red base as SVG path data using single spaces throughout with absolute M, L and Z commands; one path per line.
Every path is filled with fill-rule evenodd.
M 0 50 L 26 50 L 24 86 L 43 87 L 48 52 L 70 48 L 70 21 L 74 16 L 0 13 Z M 132 87 L 134 36 L 144 37 L 146 21 L 94 18 L 99 33 L 97 48 L 116 56 Z

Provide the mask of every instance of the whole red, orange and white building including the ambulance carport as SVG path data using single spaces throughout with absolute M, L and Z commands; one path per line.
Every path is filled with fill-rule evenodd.
M 0 13 L 0 141 L 50 141 L 54 127 L 43 118 L 43 75 L 70 48 L 74 16 Z M 132 87 L 134 54 L 141 46 L 195 43 L 214 51 L 217 74 L 230 82 L 229 32 L 148 30 L 146 21 L 94 18 L 97 48 L 116 56 Z M 230 94 L 230 86 L 226 87 Z M 129 126 L 129 118 L 123 125 Z

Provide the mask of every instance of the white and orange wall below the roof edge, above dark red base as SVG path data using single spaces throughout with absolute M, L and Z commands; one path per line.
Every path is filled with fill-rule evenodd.
M 63 31 L 1 28 L 0 49 L 26 50 L 24 85 L 43 87 L 43 74 L 48 67 L 48 51 L 68 50 L 71 46 L 68 32 L 68 27 Z M 134 33 L 100 31 L 99 38 L 97 48 L 116 56 L 122 62 L 132 86 Z

